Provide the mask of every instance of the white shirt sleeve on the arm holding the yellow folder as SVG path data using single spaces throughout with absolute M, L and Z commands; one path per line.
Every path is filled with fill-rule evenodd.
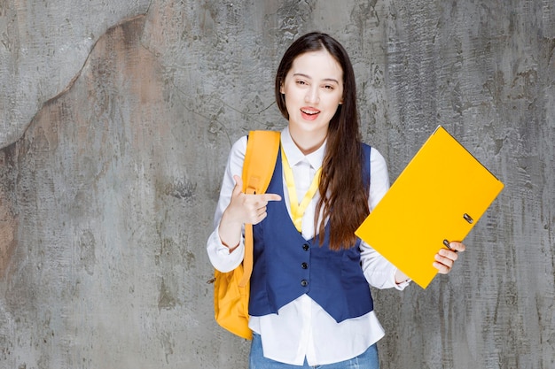
M 374 148 L 370 153 L 370 198 L 368 205 L 372 211 L 389 189 L 386 159 Z M 361 242 L 361 263 L 366 280 L 375 288 L 397 288 L 403 290 L 409 281 L 395 283 L 397 268 L 382 257 L 371 245 Z

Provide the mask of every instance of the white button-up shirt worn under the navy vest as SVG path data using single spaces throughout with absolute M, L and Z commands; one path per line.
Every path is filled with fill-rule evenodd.
M 293 169 L 295 188 L 299 200 L 322 166 L 325 143 L 318 150 L 304 155 L 293 142 L 287 127 L 281 133 L 281 144 Z M 231 201 L 235 186 L 233 175 L 241 176 L 245 160 L 246 136 L 231 148 L 223 177 L 220 198 L 215 211 L 215 230 L 207 241 L 207 253 L 216 269 L 227 272 L 237 267 L 245 255 L 243 240 L 238 249 L 230 253 L 218 234 L 223 211 Z M 371 149 L 371 186 L 369 206 L 372 210 L 389 188 L 385 159 L 378 150 Z M 291 216 L 289 196 L 284 180 L 284 195 Z M 314 216 L 319 194 L 314 196 L 302 217 L 302 236 L 309 240 L 315 234 Z M 361 243 L 361 262 L 366 280 L 375 288 L 403 289 L 408 282 L 395 283 L 396 268 L 365 242 Z M 306 357 L 309 365 L 326 365 L 348 360 L 362 354 L 384 336 L 374 311 L 361 317 L 337 323 L 309 296 L 303 295 L 279 309 L 277 314 L 250 317 L 249 327 L 262 337 L 264 357 L 289 365 L 302 365 Z

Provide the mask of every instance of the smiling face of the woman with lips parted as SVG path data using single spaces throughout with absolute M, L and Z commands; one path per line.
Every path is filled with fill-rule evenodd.
M 285 95 L 292 135 L 324 138 L 342 104 L 343 70 L 327 50 L 306 52 L 293 60 L 280 92 Z

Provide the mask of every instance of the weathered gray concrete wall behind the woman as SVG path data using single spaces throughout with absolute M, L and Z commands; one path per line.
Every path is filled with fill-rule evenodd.
M 392 179 L 441 123 L 505 183 L 448 277 L 375 291 L 382 367 L 555 367 L 551 0 L 4 0 L 1 368 L 246 367 L 205 242 L 231 142 L 285 125 L 273 73 L 314 29 Z

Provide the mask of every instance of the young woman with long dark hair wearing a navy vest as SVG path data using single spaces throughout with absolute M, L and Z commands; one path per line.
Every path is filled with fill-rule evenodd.
M 384 331 L 370 285 L 403 289 L 410 281 L 354 234 L 389 180 L 384 158 L 361 142 L 347 52 L 329 35 L 301 36 L 277 69 L 276 99 L 288 126 L 270 187 L 241 192 L 242 137 L 231 148 L 207 242 L 215 268 L 231 271 L 244 256 L 243 225 L 255 225 L 250 368 L 378 368 Z M 439 273 L 465 250 L 450 246 L 435 257 Z

